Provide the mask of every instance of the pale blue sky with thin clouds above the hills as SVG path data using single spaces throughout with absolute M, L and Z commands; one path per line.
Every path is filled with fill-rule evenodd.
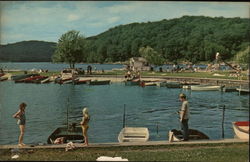
M 57 42 L 69 30 L 85 37 L 133 22 L 183 15 L 249 18 L 248 2 L 192 1 L 0 1 L 0 44 Z

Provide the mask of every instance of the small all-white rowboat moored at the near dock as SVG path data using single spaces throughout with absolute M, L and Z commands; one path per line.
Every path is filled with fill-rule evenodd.
M 146 127 L 124 127 L 118 135 L 119 143 L 146 142 L 149 139 L 149 131 Z

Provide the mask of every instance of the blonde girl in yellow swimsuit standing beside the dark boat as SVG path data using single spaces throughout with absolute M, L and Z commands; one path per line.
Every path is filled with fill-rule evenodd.
M 82 135 L 84 137 L 83 145 L 88 146 L 89 141 L 88 141 L 87 131 L 89 129 L 88 123 L 89 123 L 89 120 L 90 120 L 90 116 L 89 116 L 89 113 L 88 113 L 88 108 L 87 107 L 83 108 L 82 113 L 83 113 L 83 117 L 82 117 L 82 121 L 81 121 L 80 124 L 81 124 L 81 127 L 82 127 Z

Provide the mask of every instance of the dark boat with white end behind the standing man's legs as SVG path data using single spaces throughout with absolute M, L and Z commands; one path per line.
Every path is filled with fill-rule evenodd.
M 169 142 L 182 141 L 182 139 L 183 139 L 182 131 L 176 129 L 172 129 L 169 131 L 168 133 Z M 205 139 L 209 139 L 209 137 L 206 134 L 196 129 L 189 129 L 189 140 L 205 140 Z

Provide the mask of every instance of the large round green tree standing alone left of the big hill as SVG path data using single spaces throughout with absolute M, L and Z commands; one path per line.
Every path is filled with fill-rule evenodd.
M 84 61 L 85 42 L 84 36 L 80 35 L 79 31 L 68 31 L 58 40 L 52 61 L 65 62 L 70 68 L 75 68 L 75 63 Z

